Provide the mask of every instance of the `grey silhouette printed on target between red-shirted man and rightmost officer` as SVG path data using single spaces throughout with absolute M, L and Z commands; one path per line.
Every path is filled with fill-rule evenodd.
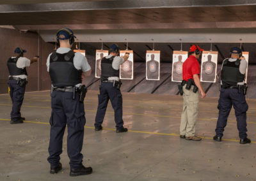
M 214 82 L 216 63 L 212 62 L 212 55 L 207 56 L 207 62 L 202 65 L 202 80 Z

